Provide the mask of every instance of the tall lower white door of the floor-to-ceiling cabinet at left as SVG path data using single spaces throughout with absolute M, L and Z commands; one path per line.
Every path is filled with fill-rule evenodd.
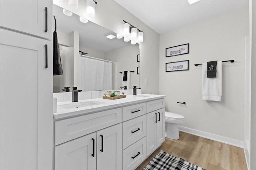
M 51 170 L 52 121 L 52 42 L 0 29 L 0 169 Z

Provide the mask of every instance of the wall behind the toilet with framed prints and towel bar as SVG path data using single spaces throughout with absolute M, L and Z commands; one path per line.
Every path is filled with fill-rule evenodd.
M 244 141 L 244 41 L 249 35 L 248 14 L 248 9 L 243 8 L 160 35 L 160 94 L 167 96 L 166 110 L 184 115 L 183 127 L 238 140 L 238 144 Z M 166 48 L 185 43 L 189 43 L 189 54 L 165 57 Z M 231 59 L 235 62 L 222 66 L 222 101 L 203 101 L 202 66 L 194 64 Z M 165 63 L 183 60 L 190 62 L 188 71 L 165 72 Z

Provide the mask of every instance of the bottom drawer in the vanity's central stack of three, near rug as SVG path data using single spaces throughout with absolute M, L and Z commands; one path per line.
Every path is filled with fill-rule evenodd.
M 146 137 L 123 150 L 123 170 L 135 169 L 146 158 Z

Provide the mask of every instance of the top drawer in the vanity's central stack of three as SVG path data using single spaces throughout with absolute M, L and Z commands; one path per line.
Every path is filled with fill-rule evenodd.
M 123 121 L 146 114 L 146 103 L 123 107 Z

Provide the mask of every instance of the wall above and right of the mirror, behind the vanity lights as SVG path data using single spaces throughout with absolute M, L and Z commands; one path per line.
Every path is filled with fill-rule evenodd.
M 95 10 L 95 17 L 88 18 L 85 10 L 85 0 L 79 1 L 79 9 L 74 11 L 68 6 L 67 1 L 54 0 L 54 4 L 61 6 L 75 14 L 89 19 L 90 21 L 114 31 L 120 35 L 123 34 L 123 20 L 144 32 L 144 41 L 140 43 L 140 87 L 142 93 L 158 94 L 159 92 L 159 34 L 144 24 L 130 12 L 113 0 L 98 1 Z M 148 84 L 145 84 L 145 78 L 148 78 Z

